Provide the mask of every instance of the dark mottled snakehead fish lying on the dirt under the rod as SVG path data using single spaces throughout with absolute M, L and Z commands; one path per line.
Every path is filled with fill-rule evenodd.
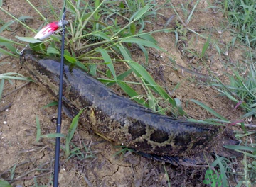
M 41 58 L 30 50 L 23 67 L 53 96 L 58 95 L 60 62 Z M 80 67 L 65 62 L 63 98 L 70 108 L 86 108 L 80 117 L 98 135 L 119 145 L 156 156 L 190 157 L 198 152 L 218 151 L 215 145 L 233 141 L 220 126 L 191 123 L 154 113 L 90 77 Z M 229 133 L 230 134 L 230 133 Z M 224 141 L 225 140 L 225 141 Z

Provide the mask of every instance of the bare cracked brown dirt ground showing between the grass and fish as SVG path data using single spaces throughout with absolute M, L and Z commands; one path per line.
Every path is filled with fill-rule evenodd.
M 31 2 L 39 7 L 41 13 L 47 17 L 47 11 L 43 7 L 43 2 L 39 3 L 35 0 Z M 191 6 L 195 2 L 192 2 Z M 213 3 L 214 1 L 210 2 Z M 56 6 L 60 6 L 61 3 L 62 1 L 55 0 Z M 175 0 L 172 3 L 174 6 L 179 6 L 181 2 Z M 216 30 L 220 26 L 220 22 L 225 20 L 225 18 L 223 18 L 222 13 L 214 13 L 213 9 L 207 8 L 208 6 L 207 1 L 201 0 L 189 23 L 189 28 L 197 30 L 199 33 L 209 34 L 210 30 Z M 25 0 L 6 0 L 3 7 L 16 17 L 32 16 L 33 21 L 28 23 L 32 28 L 38 28 L 42 23 L 36 12 L 28 6 Z M 166 6 L 160 13 L 164 16 L 159 16 L 153 25 L 147 26 L 147 29 L 163 28 L 166 18 L 173 15 L 174 11 L 170 6 Z M 11 19 L 3 12 L 0 12 L 0 17 L 4 21 Z M 176 19 L 175 17 L 174 20 Z M 175 27 L 175 21 L 171 21 L 168 27 Z M 14 40 L 15 35 L 28 36 L 31 34 L 20 26 L 11 26 L 11 28 L 14 29 L 13 32 L 5 31 L 1 34 L 6 38 Z M 194 71 L 198 70 L 203 74 L 208 74 L 203 64 L 198 64 L 196 59 L 182 50 L 182 47 L 175 47 L 174 33 L 158 33 L 154 37 L 159 42 L 160 47 L 163 47 L 172 57 L 175 57 L 177 64 Z M 186 45 L 188 49 L 201 53 L 206 40 L 196 37 L 193 33 L 188 33 L 187 37 L 188 40 L 178 43 L 178 46 Z M 213 32 L 213 38 L 225 43 L 230 40 L 230 35 L 228 33 L 218 34 L 215 31 Z M 236 120 L 242 115 L 239 109 L 234 110 L 234 103 L 231 103 L 228 98 L 218 96 L 218 91 L 215 91 L 210 86 L 205 86 L 204 81 L 193 77 L 193 74 L 175 68 L 174 64 L 171 64 L 164 53 L 152 52 L 155 55 L 151 55 L 148 67 L 152 76 L 169 91 L 172 91 L 176 84 L 181 82 L 181 86 L 174 93 L 171 93 L 171 96 L 181 99 L 183 109 L 192 118 L 206 119 L 213 116 L 196 104 L 189 102 L 190 99 L 196 99 L 205 103 L 230 120 Z M 240 49 L 228 52 L 228 57 L 223 58 L 219 57 L 218 52 L 216 52 L 213 46 L 210 46 L 206 53 L 209 57 L 207 63 L 210 70 L 215 72 L 224 82 L 227 82 L 225 72 L 229 71 L 229 69 L 226 69 L 225 63 L 230 61 L 236 62 L 242 58 L 242 50 Z M 138 62 L 143 63 L 143 61 L 143 58 L 138 57 Z M 18 72 L 28 76 L 19 64 L 18 59 L 9 57 L 4 62 L 9 63 L 0 66 L 0 74 L 4 72 Z M 3 95 L 8 94 L 24 83 L 23 81 L 13 82 L 14 84 L 11 85 L 6 81 Z M 42 109 L 42 106 L 50 103 L 50 101 L 53 101 L 53 98 L 33 83 L 18 89 L 18 91 L 5 96 L 1 100 L 0 108 L 7 106 L 9 103 L 11 103 L 11 107 L 0 113 L 0 177 L 6 180 L 13 178 L 14 181 L 11 183 L 13 186 L 50 185 L 49 181 L 53 177 L 54 140 L 43 139 L 40 144 L 35 142 L 36 115 L 40 119 L 42 134 L 55 132 L 55 124 L 51 122 L 51 119 L 56 117 L 57 108 Z M 69 125 L 70 120 L 63 117 L 63 133 L 68 131 Z M 59 180 L 61 187 L 164 187 L 168 186 L 166 172 L 171 186 L 204 186 L 205 168 L 191 169 L 171 166 L 170 164 L 152 161 L 131 153 L 125 154 L 124 157 L 114 156 L 120 150 L 119 148 L 114 147 L 110 142 L 102 140 L 97 135 L 90 134 L 82 129 L 82 124 L 80 124 L 73 142 L 81 146 L 82 142 L 85 143 L 86 147 L 90 149 L 90 152 L 87 152 L 88 158 L 66 159 L 64 152 L 61 152 Z M 14 176 L 11 176 L 9 171 L 14 169 L 14 167 Z

